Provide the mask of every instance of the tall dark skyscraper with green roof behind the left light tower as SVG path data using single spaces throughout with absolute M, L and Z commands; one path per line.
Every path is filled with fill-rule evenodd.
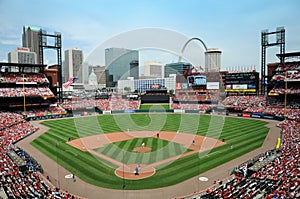
M 40 32 L 41 28 L 34 26 L 23 26 L 23 35 L 22 35 L 22 46 L 29 48 L 30 52 L 35 52 L 37 57 L 37 64 L 42 63 L 40 60 Z

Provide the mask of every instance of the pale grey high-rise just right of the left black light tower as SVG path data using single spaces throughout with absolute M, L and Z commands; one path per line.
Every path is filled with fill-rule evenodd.
M 83 73 L 83 52 L 77 48 L 65 50 L 65 61 L 64 61 L 64 82 L 69 77 L 77 77 L 78 80 L 75 84 L 84 83 Z

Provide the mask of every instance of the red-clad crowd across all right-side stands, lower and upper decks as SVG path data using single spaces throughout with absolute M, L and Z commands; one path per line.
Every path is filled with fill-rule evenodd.
M 187 198 L 300 198 L 299 66 L 300 62 L 278 66 L 273 96 L 228 96 L 222 102 L 234 110 L 285 118 L 277 125 L 282 129 L 280 146 L 235 168 L 225 183 L 219 181 Z M 283 88 L 279 81 L 286 78 L 295 82 L 293 87 Z M 284 99 L 284 94 L 289 98 Z

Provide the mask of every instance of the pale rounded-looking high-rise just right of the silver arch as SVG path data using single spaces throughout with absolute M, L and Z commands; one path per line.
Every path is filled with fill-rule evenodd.
M 221 69 L 222 51 L 217 48 L 207 49 L 205 52 L 205 71 L 218 72 Z

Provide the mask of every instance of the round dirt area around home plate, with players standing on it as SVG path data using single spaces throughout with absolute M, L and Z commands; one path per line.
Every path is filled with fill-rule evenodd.
M 155 168 L 148 166 L 146 164 L 140 165 L 140 170 L 138 175 L 135 174 L 136 164 L 123 165 L 115 170 L 116 176 L 119 178 L 125 178 L 128 180 L 139 180 L 143 178 L 148 178 L 155 174 Z

